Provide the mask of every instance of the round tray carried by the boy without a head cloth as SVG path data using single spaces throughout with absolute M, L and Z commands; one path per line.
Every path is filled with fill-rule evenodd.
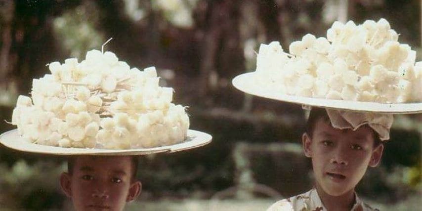
M 34 144 L 28 142 L 28 140 L 19 135 L 17 129 L 9 130 L 0 135 L 0 143 L 6 147 L 19 151 L 51 155 L 148 155 L 155 153 L 173 153 L 204 146 L 210 143 L 211 139 L 212 136 L 210 134 L 190 129 L 187 132 L 186 139 L 178 144 L 153 148 L 110 150 L 96 148 L 64 148 Z

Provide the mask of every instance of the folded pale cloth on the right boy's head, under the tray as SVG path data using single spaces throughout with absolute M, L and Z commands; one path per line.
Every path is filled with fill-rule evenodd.
M 303 106 L 304 109 L 311 107 Z M 380 136 L 380 140 L 390 139 L 390 128 L 393 125 L 392 114 L 377 114 L 369 112 L 341 111 L 325 109 L 330 118 L 331 125 L 337 129 L 356 130 L 363 125 L 368 125 Z

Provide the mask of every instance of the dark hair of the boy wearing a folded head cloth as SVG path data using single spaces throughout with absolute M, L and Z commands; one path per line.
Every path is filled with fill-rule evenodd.
M 306 128 L 305 128 L 305 132 L 306 134 L 309 135 L 310 138 L 312 138 L 312 133 L 315 129 L 316 122 L 320 119 L 323 119 L 326 122 L 330 122 L 330 117 L 328 117 L 327 110 L 325 108 L 313 107 L 309 113 L 309 118 L 306 121 Z M 375 147 L 378 147 L 378 145 L 380 145 L 382 142 L 378 133 L 372 127 L 370 128 L 372 130 L 372 134 L 374 138 L 373 146 L 375 148 Z

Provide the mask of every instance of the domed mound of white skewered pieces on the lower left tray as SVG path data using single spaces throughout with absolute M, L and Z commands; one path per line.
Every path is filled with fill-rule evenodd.
M 34 143 L 60 147 L 133 149 L 171 145 L 187 135 L 185 108 L 171 103 L 173 89 L 159 86 L 155 67 L 129 68 L 107 51 L 85 60 L 48 65 L 20 95 L 12 124 Z

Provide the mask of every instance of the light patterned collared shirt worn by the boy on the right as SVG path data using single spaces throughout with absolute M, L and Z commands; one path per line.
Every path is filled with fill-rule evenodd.
M 363 203 L 355 193 L 355 204 L 350 211 L 379 211 Z M 327 211 L 321 202 L 316 189 L 306 193 L 283 199 L 271 205 L 267 211 Z

